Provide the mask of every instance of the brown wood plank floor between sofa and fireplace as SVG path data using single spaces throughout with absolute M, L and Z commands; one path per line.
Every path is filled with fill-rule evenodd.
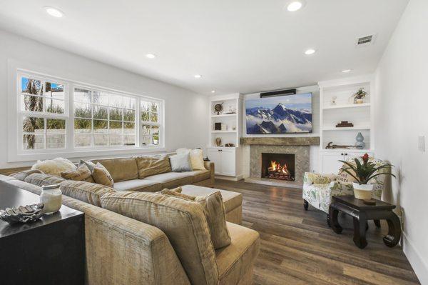
M 260 233 L 254 284 L 419 284 L 400 246 L 389 248 L 369 221 L 368 245 L 352 241 L 352 219 L 340 215 L 342 234 L 326 214 L 303 209 L 302 190 L 216 180 L 215 188 L 243 194 L 243 225 Z

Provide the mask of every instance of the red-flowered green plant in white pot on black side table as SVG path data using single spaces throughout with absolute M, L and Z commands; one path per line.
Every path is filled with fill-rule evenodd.
M 392 164 L 383 164 L 382 166 L 375 166 L 372 162 L 369 162 L 369 155 L 365 154 L 362 158 L 362 164 L 360 159 L 355 159 L 355 165 L 342 161 L 347 167 L 342 170 L 347 174 L 350 174 L 356 182 L 352 183 L 354 186 L 354 196 L 357 199 L 370 200 L 372 199 L 373 184 L 368 184 L 370 179 L 379 175 L 390 175 L 395 177 L 394 174 L 389 172 L 378 172 L 380 169 L 389 168 Z

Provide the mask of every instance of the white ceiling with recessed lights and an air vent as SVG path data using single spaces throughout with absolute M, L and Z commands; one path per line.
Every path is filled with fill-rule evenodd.
M 294 13 L 287 2 L 2 0 L 0 27 L 203 94 L 245 94 L 374 71 L 408 0 L 306 0 Z

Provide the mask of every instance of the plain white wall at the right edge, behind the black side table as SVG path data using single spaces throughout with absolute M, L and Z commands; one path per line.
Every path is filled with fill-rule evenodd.
M 389 199 L 402 206 L 403 249 L 419 281 L 428 284 L 428 1 L 411 0 L 379 62 L 374 111 L 376 154 L 391 161 Z

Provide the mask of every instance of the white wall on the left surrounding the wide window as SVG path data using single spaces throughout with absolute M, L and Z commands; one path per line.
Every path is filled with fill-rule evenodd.
M 34 71 L 48 73 L 87 84 L 153 96 L 165 100 L 165 149 L 204 147 L 208 141 L 208 96 L 133 74 L 123 69 L 86 59 L 0 30 L 0 169 L 31 165 L 32 161 L 8 163 L 7 104 L 8 61 L 35 66 Z M 143 64 L 143 63 L 142 63 Z M 114 154 L 111 154 L 112 156 Z

